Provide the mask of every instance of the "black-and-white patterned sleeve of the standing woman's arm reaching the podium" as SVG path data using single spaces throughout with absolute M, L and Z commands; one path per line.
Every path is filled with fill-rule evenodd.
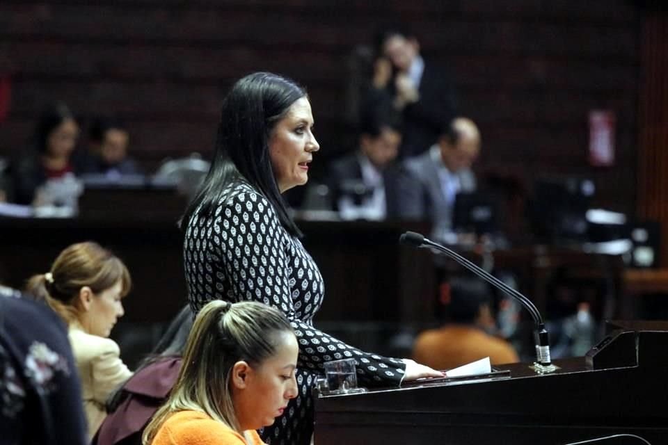
M 292 323 L 299 341 L 300 367 L 324 373 L 324 362 L 353 357 L 358 363 L 360 385 L 399 385 L 406 369 L 400 359 L 365 353 L 296 316 L 296 309 L 312 304 L 297 298 L 298 286 L 301 291 L 317 291 L 315 280 L 299 280 L 299 274 L 310 277 L 317 270 L 306 267 L 303 259 L 294 254 L 296 243 L 264 197 L 240 194 L 216 213 L 214 232 L 219 236 L 213 239 L 219 243 L 212 254 L 221 259 L 218 264 L 222 270 L 216 273 L 228 277 L 230 289 L 226 297 L 232 301 L 256 300 L 280 309 Z M 293 275 L 296 268 L 301 270 Z M 311 285 L 313 289 L 304 289 Z

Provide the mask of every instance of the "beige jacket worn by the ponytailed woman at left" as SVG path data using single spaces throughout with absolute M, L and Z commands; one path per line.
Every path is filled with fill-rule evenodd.
M 90 440 L 106 417 L 106 398 L 132 372 L 120 359 L 120 349 L 115 341 L 87 334 L 78 323 L 70 325 L 69 337 L 81 378 L 81 396 L 84 398 Z

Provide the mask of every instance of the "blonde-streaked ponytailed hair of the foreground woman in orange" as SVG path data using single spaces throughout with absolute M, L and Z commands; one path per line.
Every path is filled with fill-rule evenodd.
M 184 410 L 203 412 L 241 434 L 230 394 L 232 368 L 239 360 L 260 366 L 276 353 L 277 332 L 294 331 L 283 313 L 260 302 L 214 300 L 202 307 L 177 381 L 146 426 L 142 444 L 150 444 L 168 417 Z

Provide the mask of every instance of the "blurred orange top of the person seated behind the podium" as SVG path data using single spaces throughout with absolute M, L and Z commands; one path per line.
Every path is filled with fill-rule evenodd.
M 488 357 L 492 364 L 515 363 L 512 346 L 477 327 L 450 325 L 422 332 L 413 347 L 415 362 L 434 369 L 452 369 Z

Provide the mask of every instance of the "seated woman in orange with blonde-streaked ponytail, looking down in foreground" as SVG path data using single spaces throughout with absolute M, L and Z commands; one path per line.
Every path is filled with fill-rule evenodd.
M 287 318 L 260 302 L 203 307 L 166 404 L 143 433 L 145 445 L 259 445 L 297 395 L 299 346 Z

